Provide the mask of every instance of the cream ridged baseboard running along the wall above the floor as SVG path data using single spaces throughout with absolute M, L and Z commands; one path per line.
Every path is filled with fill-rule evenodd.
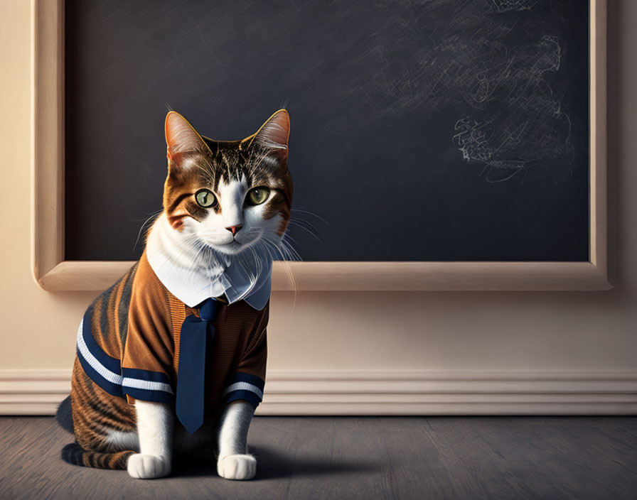
M 0 370 L 0 415 L 53 415 L 70 370 Z M 259 415 L 636 415 L 635 369 L 270 370 Z

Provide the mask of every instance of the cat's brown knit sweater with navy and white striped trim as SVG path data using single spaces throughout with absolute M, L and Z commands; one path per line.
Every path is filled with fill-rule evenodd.
M 218 293 L 218 280 L 208 280 L 202 287 L 196 278 L 184 282 L 157 256 L 153 264 L 144 251 L 139 262 L 85 312 L 77 333 L 74 384 L 86 383 L 88 378 L 113 398 L 128 403 L 135 399 L 175 401 L 183 321 L 188 315 L 198 316 L 197 305 Z M 207 422 L 215 420 L 230 401 L 242 399 L 255 408 L 262 401 L 270 288 L 267 271 L 247 297 L 237 300 L 245 290 L 228 287 L 217 297 L 215 335 L 205 363 Z M 75 418 L 75 410 L 73 413 Z

